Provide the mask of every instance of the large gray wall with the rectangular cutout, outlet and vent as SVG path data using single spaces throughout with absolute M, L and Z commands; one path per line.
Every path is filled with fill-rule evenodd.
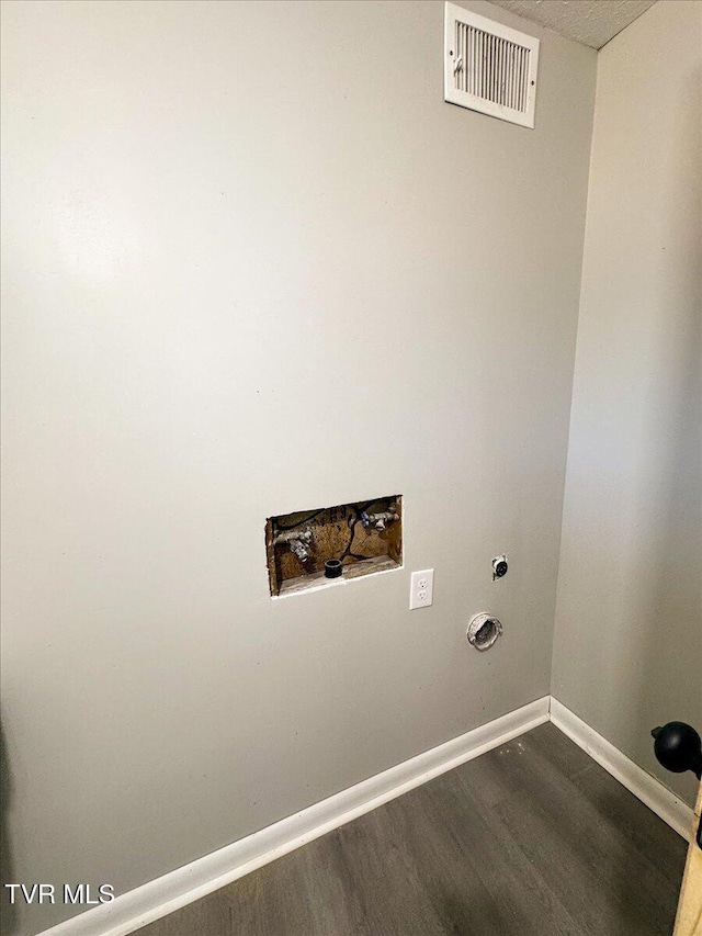
M 528 131 L 439 2 L 3 5 L 9 876 L 120 893 L 548 692 L 596 53 L 469 4 Z M 265 517 L 396 492 L 270 599 Z

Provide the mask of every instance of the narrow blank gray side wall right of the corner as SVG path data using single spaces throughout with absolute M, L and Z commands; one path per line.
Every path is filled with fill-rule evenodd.
M 553 693 L 645 769 L 702 730 L 702 4 L 600 53 Z

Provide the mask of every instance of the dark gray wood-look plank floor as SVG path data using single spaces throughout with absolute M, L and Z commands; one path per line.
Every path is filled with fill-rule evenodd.
M 139 936 L 670 936 L 684 857 L 544 724 Z

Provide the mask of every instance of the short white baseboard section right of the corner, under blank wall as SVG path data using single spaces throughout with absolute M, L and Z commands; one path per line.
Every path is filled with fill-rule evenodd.
M 660 780 L 630 760 L 625 754 L 622 754 L 553 696 L 551 697 L 551 721 L 657 816 L 689 841 L 692 831 L 692 809 Z

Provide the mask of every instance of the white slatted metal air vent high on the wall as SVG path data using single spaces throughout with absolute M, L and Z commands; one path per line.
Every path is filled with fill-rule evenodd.
M 533 127 L 537 67 L 539 40 L 445 4 L 445 101 Z

